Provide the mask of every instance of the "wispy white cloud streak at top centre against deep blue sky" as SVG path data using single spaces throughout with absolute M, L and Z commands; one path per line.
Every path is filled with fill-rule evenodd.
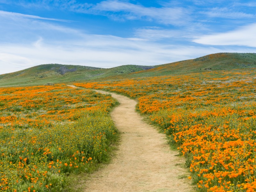
M 118 0 L 102 1 L 89 8 L 74 8 L 74 11 L 101 14 L 115 20 L 154 20 L 164 24 L 184 25 L 189 20 L 188 10 L 182 7 L 144 7 Z

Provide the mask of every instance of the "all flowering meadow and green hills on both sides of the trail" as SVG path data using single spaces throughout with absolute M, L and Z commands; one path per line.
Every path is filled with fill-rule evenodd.
M 136 99 L 137 111 L 186 157 L 197 191 L 249 192 L 256 191 L 255 58 L 218 53 L 148 70 L 76 66 L 63 75 L 63 66 L 41 65 L 1 75 L 0 85 L 80 81 Z M 68 175 L 108 158 L 115 105 L 110 95 L 65 84 L 0 88 L 0 191 L 67 190 Z

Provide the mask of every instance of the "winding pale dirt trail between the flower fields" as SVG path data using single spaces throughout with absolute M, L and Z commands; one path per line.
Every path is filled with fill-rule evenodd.
M 135 100 L 110 94 L 120 102 L 111 116 L 122 133 L 121 143 L 113 161 L 85 181 L 84 191 L 192 191 L 188 171 L 182 167 L 185 160 L 170 150 L 165 135 L 135 112 Z

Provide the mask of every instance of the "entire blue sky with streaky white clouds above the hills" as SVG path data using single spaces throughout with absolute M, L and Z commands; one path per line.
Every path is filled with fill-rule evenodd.
M 0 74 L 256 52 L 255 34 L 253 0 L 0 0 Z

